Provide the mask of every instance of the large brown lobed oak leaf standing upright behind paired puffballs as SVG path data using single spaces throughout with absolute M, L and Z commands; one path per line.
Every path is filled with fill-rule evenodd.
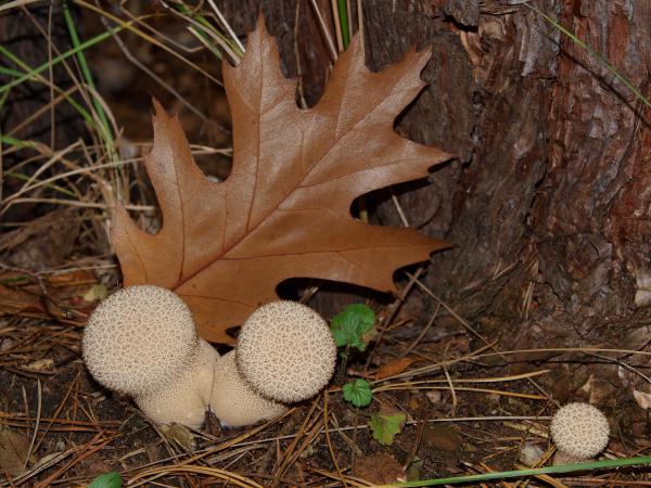
M 145 157 L 163 228 L 140 230 L 118 207 L 112 241 L 125 285 L 179 294 L 200 334 L 232 343 L 226 330 L 276 299 L 289 278 L 317 278 L 395 291 L 393 273 L 424 261 L 443 241 L 412 229 L 353 218 L 353 201 L 427 176 L 450 157 L 399 137 L 395 117 L 423 88 L 427 52 L 411 51 L 372 73 L 355 39 L 336 62 L 319 103 L 301 110 L 296 81 L 281 73 L 263 22 L 238 67 L 224 64 L 233 121 L 233 165 L 225 182 L 195 165 L 176 117 L 155 103 L 154 144 Z

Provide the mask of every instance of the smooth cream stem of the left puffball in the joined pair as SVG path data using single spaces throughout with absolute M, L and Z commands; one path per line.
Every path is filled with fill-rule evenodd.
M 194 359 L 182 374 L 164 388 L 136 396 L 136 403 L 148 418 L 158 424 L 180 423 L 199 428 L 205 420 L 213 393 L 213 378 L 219 354 L 200 339 Z

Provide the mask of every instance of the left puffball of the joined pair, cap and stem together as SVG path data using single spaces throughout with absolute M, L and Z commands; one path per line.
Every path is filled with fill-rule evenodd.
M 219 355 L 175 293 L 152 285 L 114 293 L 91 313 L 82 350 L 92 376 L 154 422 L 202 424 Z

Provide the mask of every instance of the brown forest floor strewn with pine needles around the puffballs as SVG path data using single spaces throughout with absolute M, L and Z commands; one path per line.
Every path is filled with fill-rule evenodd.
M 498 341 L 478 338 L 445 314 L 423 333 L 397 313 L 369 367 L 369 354 L 348 363 L 347 377 L 371 382 L 367 408 L 353 407 L 333 385 L 266 424 L 220 428 L 208 418 L 195 432 L 157 426 L 128 398 L 94 383 L 81 360 L 92 308 L 82 296 L 99 280 L 88 271 L 40 282 L 18 277 L 3 273 L 14 295 L 3 293 L 2 306 L 15 313 L 0 329 L 0 467 L 10 475 L 2 486 L 82 486 L 112 471 L 128 486 L 374 486 L 544 465 L 553 453 L 548 427 L 557 404 L 538 383 L 549 370 L 523 361 L 528 372 L 514 373 L 518 364 L 499 354 Z M 403 425 L 382 445 L 369 421 L 396 413 L 405 414 Z M 621 412 L 607 414 L 624 421 Z M 647 446 L 642 436 L 615 431 L 604 455 L 630 457 Z M 644 479 L 643 470 L 629 467 L 499 486 L 646 486 Z

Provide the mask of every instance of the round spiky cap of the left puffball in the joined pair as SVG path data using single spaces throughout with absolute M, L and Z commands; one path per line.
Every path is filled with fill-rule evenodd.
M 151 285 L 115 292 L 91 313 L 84 360 L 102 385 L 131 396 L 161 388 L 194 357 L 199 336 L 188 306 Z

